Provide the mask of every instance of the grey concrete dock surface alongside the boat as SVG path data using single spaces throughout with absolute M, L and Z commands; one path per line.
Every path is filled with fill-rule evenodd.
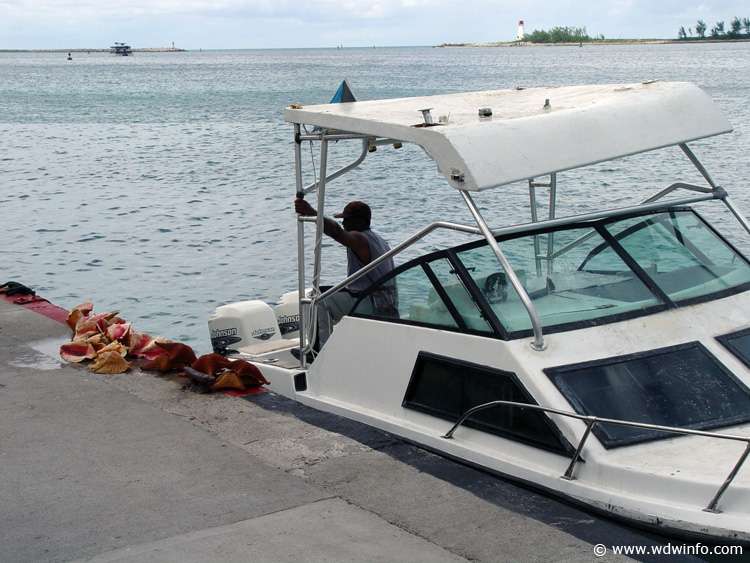
M 138 369 L 92 373 L 60 359 L 70 337 L 0 300 L 3 563 L 578 563 L 654 545 L 270 392 L 201 395 Z

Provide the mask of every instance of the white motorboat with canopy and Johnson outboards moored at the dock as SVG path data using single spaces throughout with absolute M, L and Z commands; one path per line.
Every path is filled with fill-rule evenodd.
M 297 292 L 275 308 L 217 309 L 217 350 L 255 362 L 272 391 L 591 510 L 750 542 L 750 262 L 698 209 L 725 206 L 743 233 L 750 226 L 687 145 L 732 131 L 706 93 L 661 82 L 531 88 L 291 106 L 285 119 L 297 193 L 316 191 L 318 209 L 332 179 L 398 143 L 421 146 L 468 206 L 475 223 L 425 225 L 370 268 L 437 229 L 472 240 L 398 265 L 308 365 L 316 304 L 364 271 L 321 290 L 317 236 L 311 283 L 304 229 L 320 233 L 322 220 L 300 217 Z M 308 141 L 320 156 L 305 185 Z M 330 173 L 334 141 L 361 154 Z M 705 185 L 556 216 L 559 174 L 670 148 Z M 488 225 L 477 194 L 497 202 L 518 186 L 531 195 L 529 222 Z M 394 282 L 396 306 L 380 307 L 379 288 Z

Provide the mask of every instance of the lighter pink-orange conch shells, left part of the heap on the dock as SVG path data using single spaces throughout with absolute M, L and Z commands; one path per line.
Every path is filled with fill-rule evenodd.
M 96 373 L 123 373 L 130 369 L 128 356 L 154 358 L 164 354 L 157 344 L 164 339 L 153 338 L 133 330 L 131 323 L 118 317 L 119 313 L 94 314 L 90 301 L 81 303 L 68 315 L 68 326 L 73 339 L 60 346 L 60 356 L 68 362 L 93 360 L 89 369 Z

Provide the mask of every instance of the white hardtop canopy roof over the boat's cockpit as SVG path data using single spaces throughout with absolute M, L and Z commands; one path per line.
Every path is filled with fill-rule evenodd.
M 549 102 L 547 105 L 546 102 Z M 431 108 L 433 126 L 421 110 Z M 491 117 L 480 117 L 490 108 Z M 732 130 L 685 82 L 495 90 L 292 106 L 291 123 L 417 143 L 448 183 L 478 191 Z

